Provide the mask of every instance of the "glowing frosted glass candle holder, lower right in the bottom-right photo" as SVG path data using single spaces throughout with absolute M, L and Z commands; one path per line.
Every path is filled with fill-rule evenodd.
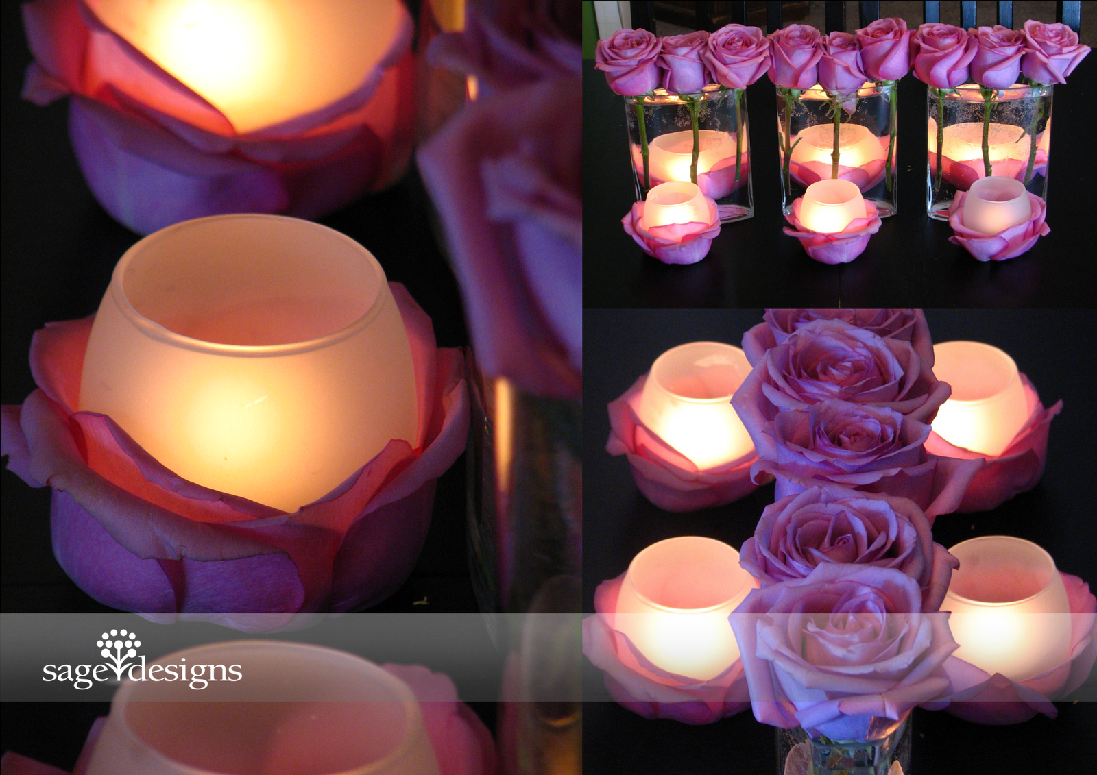
M 960 560 L 941 611 L 960 648 L 953 656 L 1024 681 L 1066 661 L 1071 613 L 1055 561 L 1036 544 L 983 536 L 949 551 Z

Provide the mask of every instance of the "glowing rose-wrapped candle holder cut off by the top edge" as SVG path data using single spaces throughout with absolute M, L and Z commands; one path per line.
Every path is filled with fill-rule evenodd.
M 414 24 L 397 0 L 39 0 L 23 19 L 23 96 L 71 96 L 88 186 L 134 231 L 319 217 L 389 185 L 410 157 Z

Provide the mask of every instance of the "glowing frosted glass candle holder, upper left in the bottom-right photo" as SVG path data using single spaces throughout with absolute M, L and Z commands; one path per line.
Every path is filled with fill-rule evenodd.
M 692 342 L 655 360 L 637 415 L 700 468 L 737 460 L 754 449 L 732 395 L 750 374 L 744 352 L 721 342 Z

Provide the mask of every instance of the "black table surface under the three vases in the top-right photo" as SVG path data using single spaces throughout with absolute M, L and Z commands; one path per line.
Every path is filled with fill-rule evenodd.
M 627 307 L 1081 307 L 1097 287 L 1092 163 L 1097 57 L 1054 93 L 1048 187 L 1051 233 L 1027 254 L 975 261 L 948 241 L 948 224 L 926 216 L 926 87 L 900 82 L 898 215 L 853 262 L 811 260 L 787 237 L 781 216 L 777 100 L 765 76 L 747 88 L 755 215 L 726 224 L 709 255 L 671 266 L 645 254 L 621 227 L 635 200 L 623 98 L 593 60 L 583 62 L 584 306 Z M 1086 247 L 1086 246 L 1089 247 Z

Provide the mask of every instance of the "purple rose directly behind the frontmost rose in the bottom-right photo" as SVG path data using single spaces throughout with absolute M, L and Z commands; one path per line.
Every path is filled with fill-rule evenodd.
M 929 520 L 906 498 L 812 487 L 766 506 L 739 549 L 762 586 L 806 578 L 825 562 L 894 568 L 918 582 L 921 611 L 941 607 L 958 562 L 934 543 Z

